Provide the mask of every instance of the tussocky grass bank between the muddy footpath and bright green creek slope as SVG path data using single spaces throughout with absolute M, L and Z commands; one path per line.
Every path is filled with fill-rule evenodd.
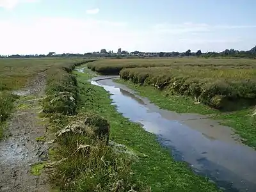
M 148 191 L 132 177 L 130 164 L 134 157 L 106 145 L 108 120 L 93 111 L 79 110 L 88 108 L 81 106 L 81 93 L 90 88 L 79 86 L 72 69 L 74 65 L 67 65 L 48 72 L 47 97 L 42 102 L 51 131 L 56 133 L 50 150 L 54 161 L 49 174 L 52 186 L 58 191 Z

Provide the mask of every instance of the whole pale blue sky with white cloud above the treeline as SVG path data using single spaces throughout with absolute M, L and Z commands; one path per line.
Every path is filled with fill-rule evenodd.
M 0 54 L 249 50 L 255 0 L 0 0 Z

